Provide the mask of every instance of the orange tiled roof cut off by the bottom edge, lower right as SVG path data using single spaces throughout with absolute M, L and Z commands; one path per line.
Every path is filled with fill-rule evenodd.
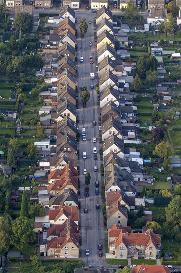
M 170 269 L 165 266 L 140 265 L 132 269 L 132 273 L 170 273 Z

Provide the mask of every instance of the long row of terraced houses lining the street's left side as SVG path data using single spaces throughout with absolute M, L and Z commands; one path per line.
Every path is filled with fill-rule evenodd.
M 39 204 L 46 208 L 45 216 L 35 217 L 40 256 L 79 257 L 75 34 L 75 12 L 66 7 L 41 41 L 44 66 L 36 76 L 44 76 L 48 88 L 40 92 L 39 108 L 47 138 L 34 142 L 41 156 L 34 179 L 41 185 Z

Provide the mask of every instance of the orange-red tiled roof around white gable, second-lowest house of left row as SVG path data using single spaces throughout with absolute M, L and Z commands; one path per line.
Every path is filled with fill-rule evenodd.
M 73 221 L 79 220 L 79 210 L 77 206 L 60 205 L 56 210 L 49 210 L 49 220 L 57 221 L 61 215 L 65 215 L 67 218 L 71 216 Z

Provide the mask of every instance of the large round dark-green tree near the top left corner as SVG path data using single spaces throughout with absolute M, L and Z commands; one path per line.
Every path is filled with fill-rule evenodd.
M 14 19 L 15 27 L 22 34 L 30 32 L 33 28 L 33 16 L 28 12 L 20 12 Z

